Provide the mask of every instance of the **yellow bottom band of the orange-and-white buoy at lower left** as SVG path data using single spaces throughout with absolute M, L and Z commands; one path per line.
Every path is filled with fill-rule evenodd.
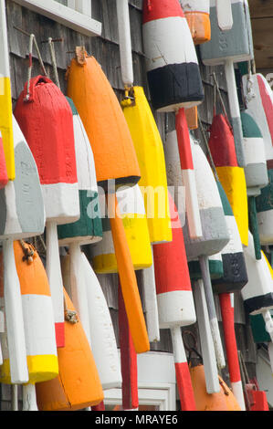
M 55 355 L 27 356 L 29 383 L 47 382 L 58 377 L 58 357 Z M 0 367 L 0 382 L 11 384 L 9 360 Z

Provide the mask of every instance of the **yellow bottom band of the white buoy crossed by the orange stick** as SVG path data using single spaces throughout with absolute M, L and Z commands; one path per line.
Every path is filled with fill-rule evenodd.
M 126 217 L 122 219 L 122 222 L 134 269 L 152 267 L 152 248 L 146 217 Z M 118 265 L 115 254 L 94 256 L 93 267 L 98 274 L 117 273 Z

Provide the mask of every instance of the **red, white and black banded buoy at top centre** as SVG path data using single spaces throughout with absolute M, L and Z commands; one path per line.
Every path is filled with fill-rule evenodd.
M 173 111 L 204 100 L 194 41 L 178 0 L 144 0 L 143 43 L 152 107 Z

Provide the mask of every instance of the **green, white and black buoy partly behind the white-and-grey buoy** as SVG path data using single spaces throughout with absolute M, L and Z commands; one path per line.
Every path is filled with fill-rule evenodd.
M 243 246 L 236 224 L 236 218 L 233 214 L 231 205 L 228 202 L 224 188 L 221 183 L 217 182 L 217 184 L 224 208 L 227 229 L 230 234 L 229 243 L 221 251 L 224 276 L 212 279 L 214 292 L 222 294 L 241 290 L 241 288 L 246 286 L 248 277 Z

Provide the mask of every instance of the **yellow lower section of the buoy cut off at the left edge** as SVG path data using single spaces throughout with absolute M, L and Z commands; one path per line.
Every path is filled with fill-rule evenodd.
M 2 132 L 3 138 L 7 175 L 9 180 L 15 180 L 16 163 L 9 78 L 0 78 L 0 131 Z

